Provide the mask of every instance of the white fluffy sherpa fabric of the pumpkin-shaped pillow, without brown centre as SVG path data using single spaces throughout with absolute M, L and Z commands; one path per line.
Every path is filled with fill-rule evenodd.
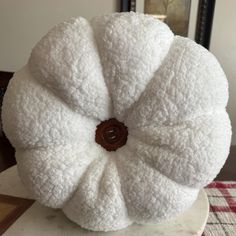
M 151 16 L 74 18 L 53 28 L 15 73 L 3 128 L 35 199 L 95 231 L 158 223 L 195 201 L 231 139 L 228 84 L 206 49 Z M 115 117 L 126 145 L 96 126 Z

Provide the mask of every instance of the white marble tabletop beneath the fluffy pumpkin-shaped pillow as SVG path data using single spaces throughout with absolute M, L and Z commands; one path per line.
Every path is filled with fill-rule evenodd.
M 30 198 L 20 182 L 16 166 L 0 173 L 0 193 Z M 208 199 L 203 190 L 191 209 L 174 220 L 158 225 L 133 224 L 116 232 L 99 233 L 80 228 L 68 220 L 60 210 L 54 210 L 35 202 L 10 228 L 4 236 L 189 236 L 201 235 L 209 212 Z

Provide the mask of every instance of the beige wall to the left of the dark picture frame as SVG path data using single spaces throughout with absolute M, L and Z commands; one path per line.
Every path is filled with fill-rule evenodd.
M 56 23 L 72 16 L 115 12 L 116 0 L 0 0 L 0 71 L 16 71 L 35 43 Z

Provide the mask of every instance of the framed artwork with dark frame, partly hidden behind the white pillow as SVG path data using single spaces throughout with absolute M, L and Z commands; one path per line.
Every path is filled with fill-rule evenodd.
M 209 48 L 215 0 L 121 0 L 121 11 L 150 14 L 174 34 Z

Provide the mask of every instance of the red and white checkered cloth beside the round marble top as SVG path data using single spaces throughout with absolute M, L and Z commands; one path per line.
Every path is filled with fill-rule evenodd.
M 236 236 L 236 182 L 215 181 L 205 191 L 210 212 L 202 236 Z

